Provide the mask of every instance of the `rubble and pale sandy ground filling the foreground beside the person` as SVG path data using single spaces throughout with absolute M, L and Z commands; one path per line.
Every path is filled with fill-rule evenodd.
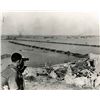
M 90 58 L 84 58 L 53 66 L 27 67 L 23 75 L 26 84 L 35 84 L 33 89 L 58 89 L 57 86 L 63 89 L 100 89 L 100 73 L 96 72 L 96 65 L 92 65 Z

